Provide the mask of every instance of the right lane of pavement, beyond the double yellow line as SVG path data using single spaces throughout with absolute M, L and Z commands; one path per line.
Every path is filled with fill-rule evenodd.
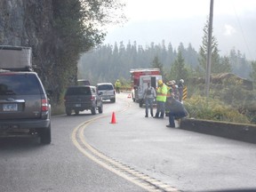
M 120 95 L 121 96 L 121 95 Z M 123 95 L 123 100 L 128 100 Z M 116 112 L 84 129 L 94 148 L 184 191 L 254 188 L 255 144 L 165 127 L 168 119 L 144 117 L 144 108 Z

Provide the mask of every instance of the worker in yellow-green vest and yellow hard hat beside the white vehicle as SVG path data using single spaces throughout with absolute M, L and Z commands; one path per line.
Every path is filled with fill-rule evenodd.
M 167 96 L 167 86 L 163 83 L 162 80 L 158 80 L 158 87 L 156 89 L 156 115 L 154 118 L 164 118 L 165 114 L 165 101 Z M 159 116 L 160 115 L 160 116 Z

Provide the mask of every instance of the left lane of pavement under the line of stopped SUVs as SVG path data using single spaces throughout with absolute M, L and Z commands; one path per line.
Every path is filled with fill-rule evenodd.
M 106 103 L 102 116 L 125 106 Z M 0 139 L 0 192 L 147 191 L 93 162 L 74 145 L 76 126 L 99 116 L 86 111 L 52 116 L 51 145 L 39 145 L 36 138 Z

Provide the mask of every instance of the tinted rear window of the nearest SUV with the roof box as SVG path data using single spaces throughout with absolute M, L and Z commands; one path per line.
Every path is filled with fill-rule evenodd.
M 39 87 L 34 74 L 0 74 L 0 95 L 40 94 Z

